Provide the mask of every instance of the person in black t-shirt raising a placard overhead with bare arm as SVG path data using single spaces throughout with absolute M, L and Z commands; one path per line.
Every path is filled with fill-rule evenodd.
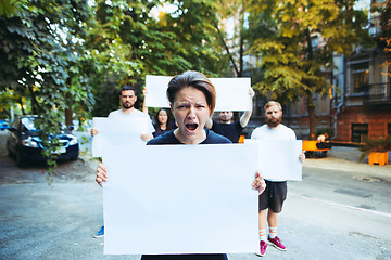
M 228 138 L 232 143 L 238 143 L 239 138 L 243 129 L 249 123 L 251 114 L 252 114 L 252 99 L 254 96 L 254 90 L 252 88 L 249 89 L 249 95 L 251 98 L 250 110 L 245 110 L 239 120 L 234 121 L 234 113 L 232 112 L 219 112 L 218 116 L 220 122 L 213 121 L 210 118 L 206 121 L 205 127 L 211 129 L 215 133 L 222 134 Z

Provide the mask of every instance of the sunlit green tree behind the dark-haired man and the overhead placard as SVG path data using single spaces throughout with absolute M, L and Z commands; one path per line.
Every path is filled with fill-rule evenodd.
M 166 1 L 176 10 L 161 11 L 161 1 L 97 1 L 86 46 L 96 61 L 94 116 L 118 106 L 117 89 L 134 84 L 139 92 L 146 75 L 175 75 L 195 69 L 216 75 L 226 62 L 216 51 L 217 21 L 213 1 Z M 141 105 L 139 100 L 137 105 Z

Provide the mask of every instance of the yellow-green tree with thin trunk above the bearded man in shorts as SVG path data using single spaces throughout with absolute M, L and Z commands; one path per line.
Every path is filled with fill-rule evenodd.
M 313 94 L 330 86 L 321 70 L 331 68 L 333 53 L 349 55 L 354 46 L 369 44 L 367 14 L 355 0 L 249 1 L 251 52 L 261 55 L 263 80 L 256 88 L 283 102 L 306 98 L 310 138 L 315 139 Z M 314 48 L 313 37 L 321 44 Z

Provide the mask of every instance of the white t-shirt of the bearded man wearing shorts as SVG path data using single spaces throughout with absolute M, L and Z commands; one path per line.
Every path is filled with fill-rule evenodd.
M 276 128 L 269 128 L 266 123 L 262 127 L 255 128 L 251 133 L 251 139 L 257 140 L 297 140 L 295 133 L 292 129 L 278 125 Z M 277 179 L 267 179 L 268 181 L 286 181 Z

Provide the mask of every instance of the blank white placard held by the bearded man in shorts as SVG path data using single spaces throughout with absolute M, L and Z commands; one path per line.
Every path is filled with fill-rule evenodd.
M 301 140 L 252 140 L 244 144 L 258 145 L 258 169 L 264 179 L 302 180 L 303 164 L 299 159 L 302 154 Z

